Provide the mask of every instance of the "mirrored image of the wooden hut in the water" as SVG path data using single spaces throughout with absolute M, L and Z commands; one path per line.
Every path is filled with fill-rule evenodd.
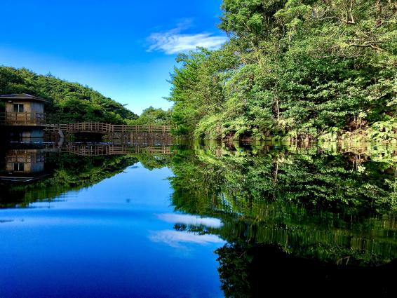
M 38 149 L 18 149 L 6 152 L 6 172 L 1 180 L 28 182 L 43 177 L 45 154 Z

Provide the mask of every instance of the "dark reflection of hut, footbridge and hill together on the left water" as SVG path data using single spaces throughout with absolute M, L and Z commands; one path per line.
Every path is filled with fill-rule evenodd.
M 146 168 L 162 168 L 170 146 L 14 143 L 0 154 L 0 208 L 10 208 L 89 187 L 137 163 L 137 156 Z

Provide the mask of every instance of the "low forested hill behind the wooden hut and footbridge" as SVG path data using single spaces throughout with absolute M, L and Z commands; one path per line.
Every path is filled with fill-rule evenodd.
M 28 69 L 0 67 L 0 94 L 28 93 L 50 102 L 46 111 L 60 115 L 60 122 L 103 122 L 122 124 L 138 118 L 122 104 L 99 92 Z

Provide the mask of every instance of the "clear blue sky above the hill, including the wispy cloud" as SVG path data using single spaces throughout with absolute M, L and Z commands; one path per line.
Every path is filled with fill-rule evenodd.
M 2 0 L 0 65 L 51 72 L 140 114 L 167 109 L 178 52 L 217 48 L 221 0 Z

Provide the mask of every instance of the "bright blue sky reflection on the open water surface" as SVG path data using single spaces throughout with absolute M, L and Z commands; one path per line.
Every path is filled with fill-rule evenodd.
M 0 210 L 0 297 L 222 297 L 224 241 L 173 231 L 207 219 L 172 213 L 171 175 L 129 167 L 62 201 Z

